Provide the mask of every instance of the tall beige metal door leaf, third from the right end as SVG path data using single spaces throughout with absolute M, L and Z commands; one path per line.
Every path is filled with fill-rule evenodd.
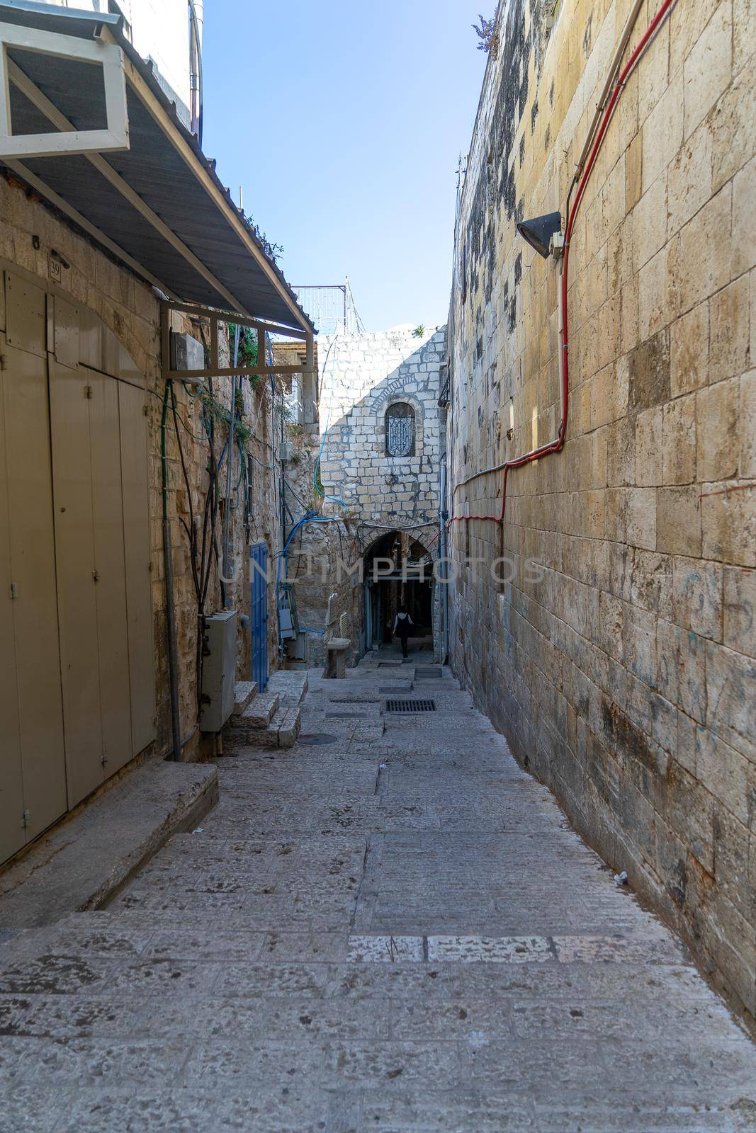
M 49 366 L 66 767 L 73 807 L 102 783 L 104 774 L 90 454 L 92 374 L 62 366 L 53 355 Z

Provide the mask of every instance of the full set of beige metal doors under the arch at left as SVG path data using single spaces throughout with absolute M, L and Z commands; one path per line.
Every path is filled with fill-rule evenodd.
M 94 313 L 0 299 L 1 862 L 154 740 L 155 695 L 139 375 Z

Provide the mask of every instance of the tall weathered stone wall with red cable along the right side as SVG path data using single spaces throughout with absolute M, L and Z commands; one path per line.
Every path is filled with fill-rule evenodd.
M 564 0 L 549 33 L 551 8 L 501 5 L 484 80 L 450 320 L 452 485 L 559 427 L 559 267 L 515 220 L 564 214 L 630 3 Z M 455 671 L 517 757 L 751 1013 L 753 20 L 748 0 L 678 3 L 622 90 L 570 245 L 566 444 L 509 475 L 503 528 L 453 525 L 451 619 Z M 495 513 L 501 487 L 458 487 L 455 510 Z M 500 554 L 515 572 L 498 585 Z

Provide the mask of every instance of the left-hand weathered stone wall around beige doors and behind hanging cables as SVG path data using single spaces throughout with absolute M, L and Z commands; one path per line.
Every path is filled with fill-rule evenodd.
M 12 178 L 0 177 L 0 258 L 18 264 L 40 276 L 40 286 L 49 281 L 49 254 L 52 248 L 68 263 L 62 269 L 59 287 L 69 291 L 80 305 L 88 306 L 122 342 L 137 369 L 145 377 L 145 403 L 150 436 L 150 538 L 153 591 L 153 638 L 155 649 L 155 688 L 158 702 L 156 752 L 162 752 L 171 741 L 169 699 L 168 646 L 165 632 L 165 581 L 162 550 L 162 475 L 161 475 L 161 414 L 163 382 L 160 376 L 159 301 L 152 288 L 128 270 L 101 253 L 85 237 L 54 211 L 43 205 L 34 194 Z M 39 247 L 34 247 L 37 237 Z M 189 329 L 189 327 L 187 327 Z M 196 332 L 195 332 L 196 333 Z M 213 383 L 215 400 L 228 410 L 231 400 L 230 378 Z M 172 520 L 172 543 L 176 576 L 176 617 L 178 629 L 180 717 L 181 731 L 192 733 L 197 721 L 196 639 L 197 602 L 192 580 L 188 542 L 181 520 L 190 525 L 189 494 L 186 489 L 178 450 L 177 432 L 181 437 L 184 458 L 190 485 L 193 512 L 202 517 L 207 488 L 207 442 L 202 424 L 201 398 L 190 398 L 185 387 L 175 386 L 178 402 L 178 431 L 169 414 L 167 429 L 168 455 L 168 512 Z M 271 394 L 267 383 L 261 382 L 253 391 L 244 383 L 244 421 L 252 426 L 253 436 L 246 449 L 252 458 L 252 509 L 247 538 L 246 506 L 243 494 L 236 488 L 239 476 L 239 452 L 235 455 L 231 547 L 236 581 L 229 586 L 229 604 L 236 604 L 239 615 L 249 613 L 248 542 L 265 539 L 272 551 L 280 547 L 278 519 L 278 466 L 274 469 L 274 450 L 271 443 Z M 218 421 L 216 455 L 220 455 L 226 425 Z M 221 469 L 221 493 L 224 494 L 224 471 Z M 222 520 L 216 523 L 219 551 L 222 539 Z M 269 587 L 269 656 L 271 667 L 277 664 L 277 630 L 274 587 Z M 213 569 L 205 610 L 221 608 L 218 571 Z M 239 631 L 239 675 L 248 678 L 249 633 Z M 185 758 L 201 750 L 195 735 L 185 749 Z

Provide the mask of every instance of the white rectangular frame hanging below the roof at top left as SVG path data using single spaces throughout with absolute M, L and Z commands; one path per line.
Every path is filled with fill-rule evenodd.
M 10 117 L 9 48 L 100 65 L 105 91 L 105 129 L 14 134 Z M 0 157 L 53 157 L 63 153 L 108 153 L 128 148 L 126 70 L 124 52 L 117 44 L 0 23 Z

